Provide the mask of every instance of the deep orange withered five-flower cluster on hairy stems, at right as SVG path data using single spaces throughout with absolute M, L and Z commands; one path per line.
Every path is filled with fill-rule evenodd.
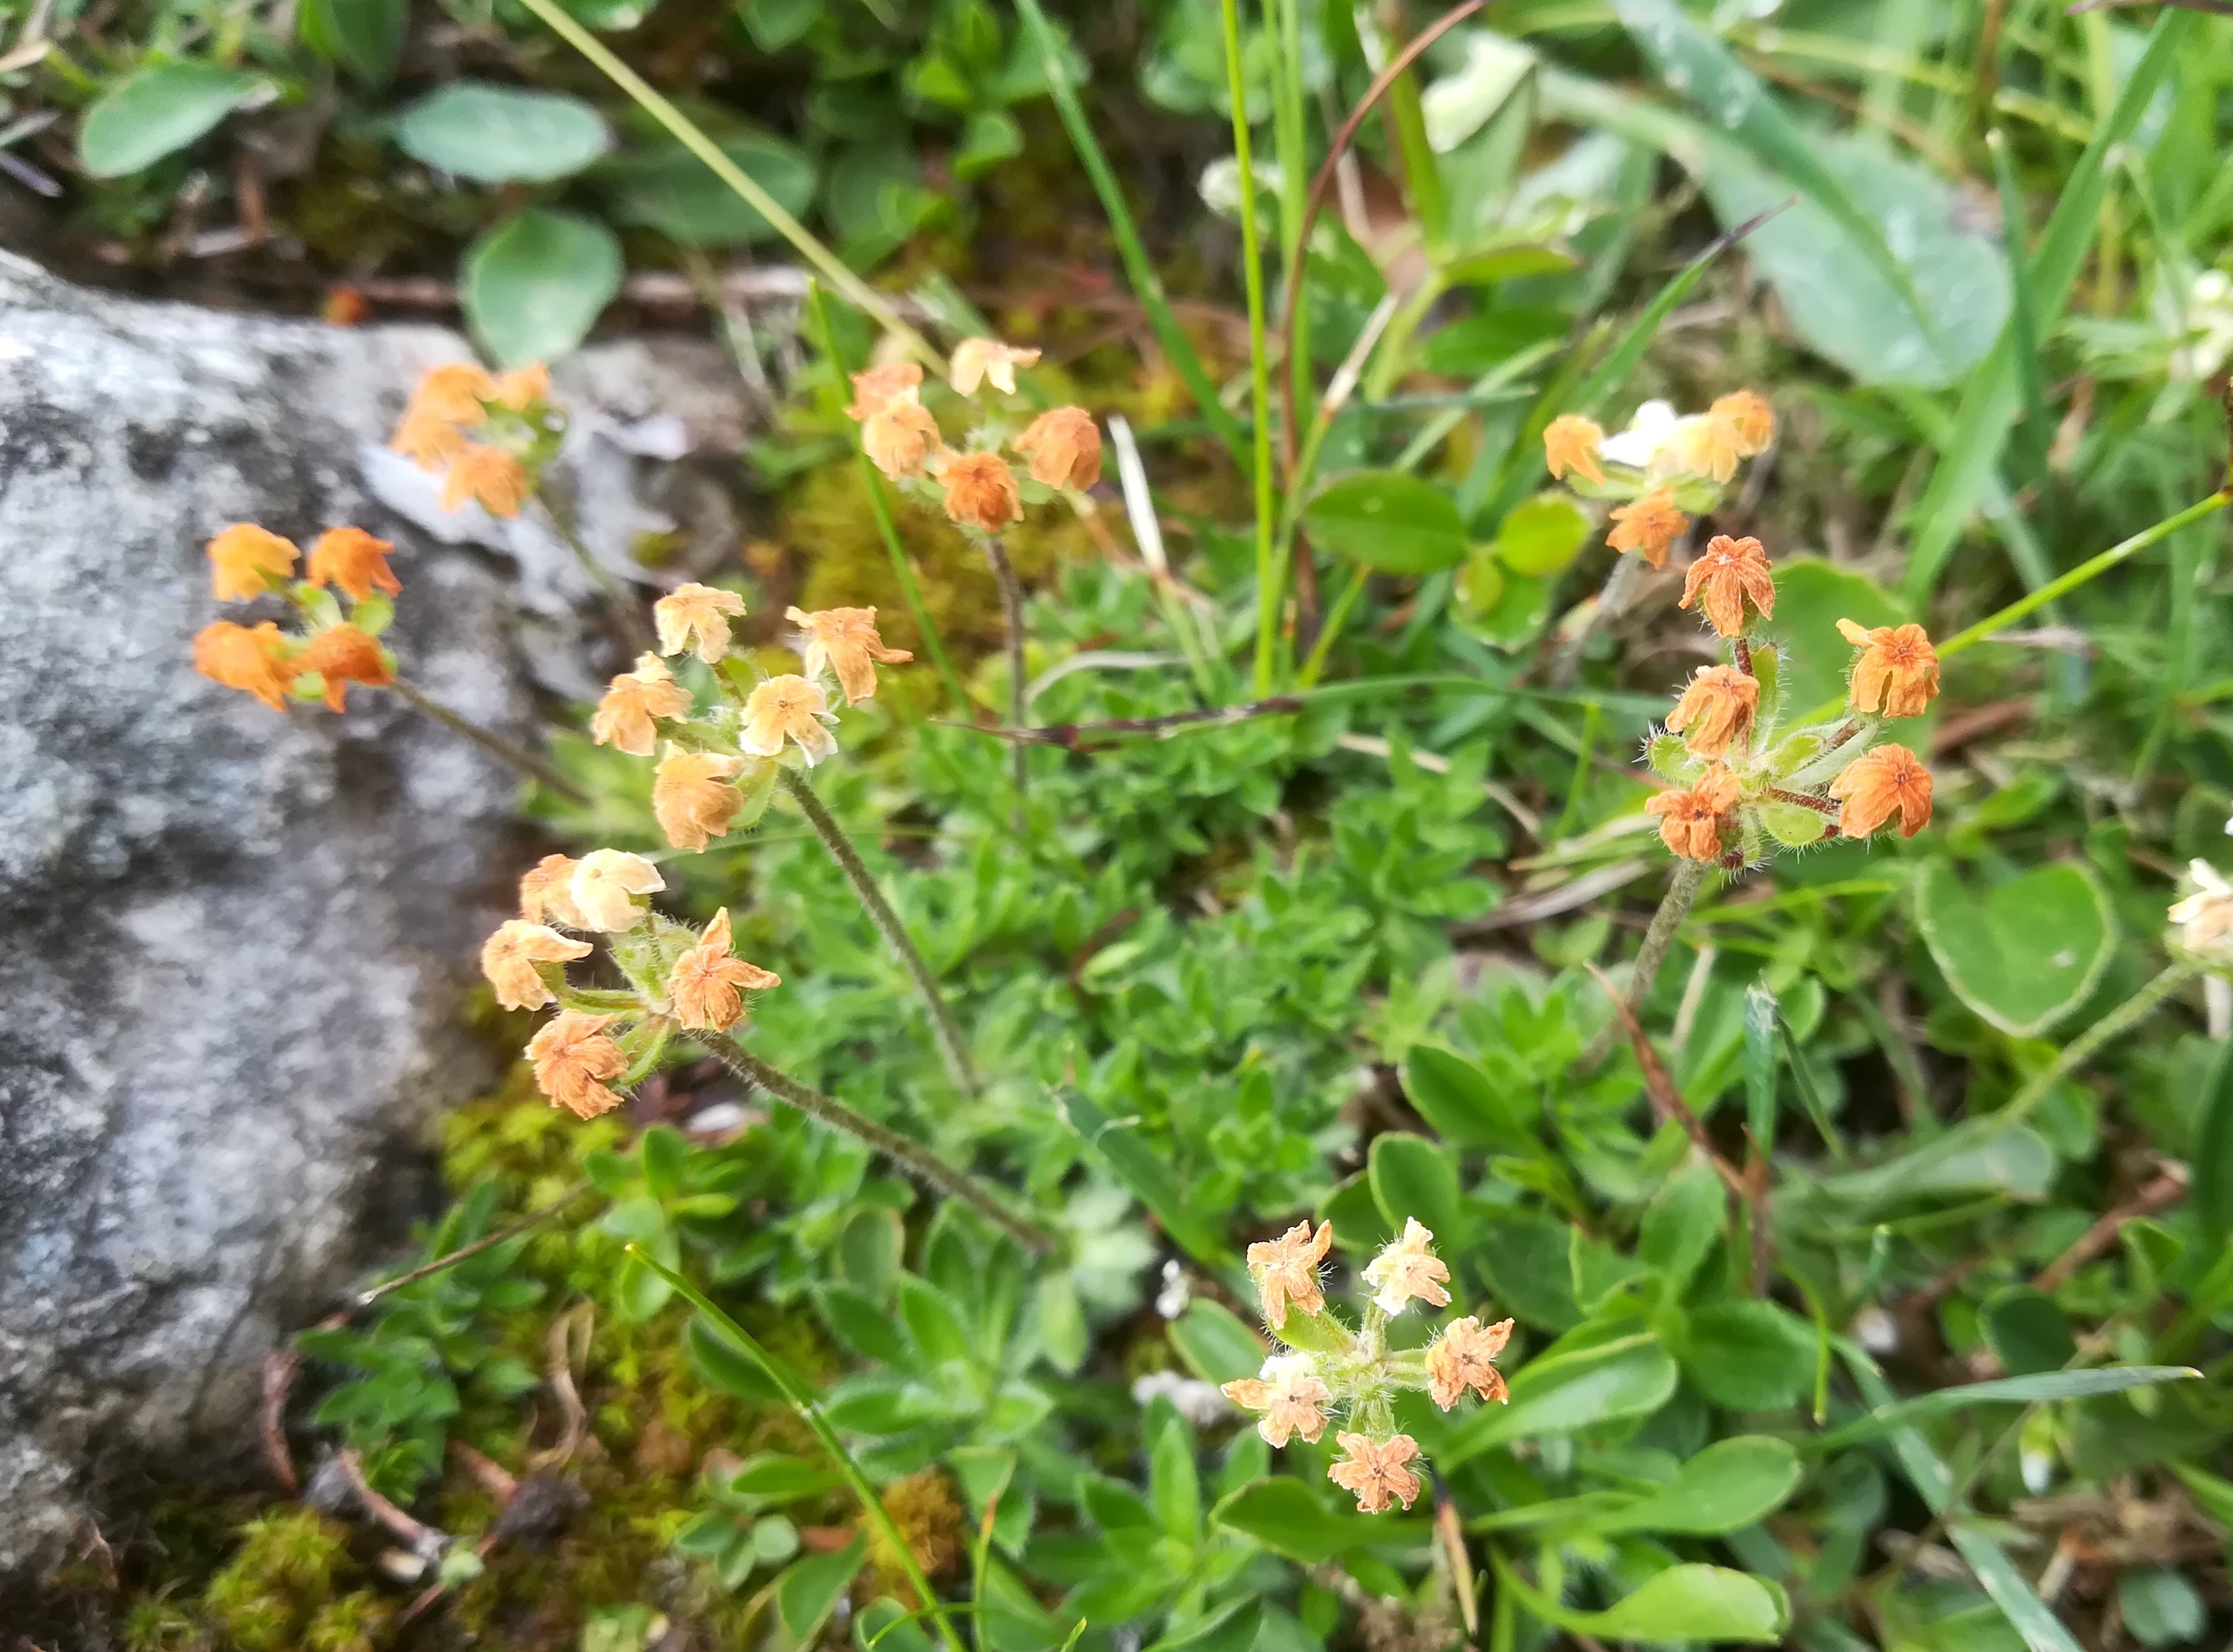
M 1764 859 L 1771 842 L 1800 848 L 1869 837 L 1891 819 L 1914 837 L 1929 824 L 1932 772 L 1909 748 L 1878 743 L 1887 719 L 1920 717 L 1938 697 L 1938 654 L 1920 625 L 1838 621 L 1858 650 L 1844 710 L 1786 730 L 1782 654 L 1751 638 L 1753 625 L 1775 614 L 1760 540 L 1708 542 L 1684 574 L 1681 605 L 1706 614 L 1728 643 L 1728 661 L 1702 667 L 1666 732 L 1646 743 L 1646 761 L 1668 790 L 1643 808 L 1675 855 L 1744 866 Z

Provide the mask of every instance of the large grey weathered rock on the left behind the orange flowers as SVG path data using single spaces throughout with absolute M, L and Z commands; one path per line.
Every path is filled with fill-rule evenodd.
M 467 353 L 0 254 L 0 1576 L 58 1549 L 105 1462 L 252 1435 L 259 1360 L 362 1264 L 380 1168 L 489 1078 L 458 1002 L 529 851 L 514 777 L 391 697 L 277 714 L 188 663 L 221 612 L 201 545 L 257 520 L 393 538 L 406 672 L 511 737 L 538 685 L 610 670 L 569 551 L 442 518 L 380 449 Z M 585 540 L 719 493 L 645 458 L 741 433 L 710 346 L 558 382 L 603 404 L 569 442 Z

